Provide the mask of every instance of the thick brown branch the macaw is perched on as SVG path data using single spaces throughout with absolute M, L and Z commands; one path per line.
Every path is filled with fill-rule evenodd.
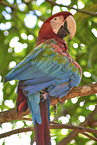
M 74 98 L 74 97 L 82 97 L 87 95 L 92 95 L 97 93 L 97 83 L 88 84 L 85 86 L 78 86 L 73 88 L 70 93 L 63 98 L 50 98 L 50 104 L 54 105 L 58 102 L 65 103 L 66 100 Z M 13 120 L 19 120 L 22 116 L 30 114 L 30 110 L 28 109 L 26 112 L 21 113 L 20 116 L 17 115 L 16 108 L 10 109 L 7 111 L 0 112 L 0 123 L 9 122 Z

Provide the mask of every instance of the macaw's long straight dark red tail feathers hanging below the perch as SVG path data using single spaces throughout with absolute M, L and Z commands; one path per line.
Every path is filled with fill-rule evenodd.
M 49 119 L 47 100 L 40 103 L 42 123 L 35 123 L 35 139 L 37 145 L 50 145 Z

